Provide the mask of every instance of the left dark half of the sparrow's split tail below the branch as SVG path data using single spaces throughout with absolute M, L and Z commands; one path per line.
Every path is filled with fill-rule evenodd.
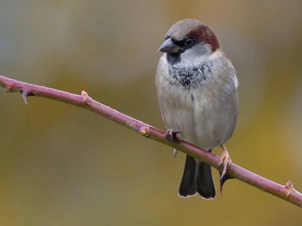
M 184 173 L 178 188 L 180 197 L 190 197 L 196 195 L 197 162 L 195 158 L 186 155 Z

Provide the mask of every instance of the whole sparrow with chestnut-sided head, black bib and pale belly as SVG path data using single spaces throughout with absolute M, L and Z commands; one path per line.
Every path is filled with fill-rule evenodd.
M 166 137 L 178 142 L 184 139 L 209 152 L 221 147 L 221 192 L 221 180 L 229 177 L 225 174 L 232 163 L 224 144 L 231 138 L 238 116 L 236 70 L 216 34 L 198 20 L 175 23 L 159 51 L 164 54 L 157 67 L 156 88 L 168 129 Z M 216 197 L 211 166 L 186 155 L 178 195 L 196 194 L 204 199 Z

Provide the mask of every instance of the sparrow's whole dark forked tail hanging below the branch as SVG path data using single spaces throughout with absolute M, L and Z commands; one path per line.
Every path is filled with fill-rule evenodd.
M 204 162 L 196 162 L 194 157 L 186 155 L 184 173 L 179 185 L 178 195 L 190 197 L 198 193 L 204 199 L 216 196 L 211 166 Z

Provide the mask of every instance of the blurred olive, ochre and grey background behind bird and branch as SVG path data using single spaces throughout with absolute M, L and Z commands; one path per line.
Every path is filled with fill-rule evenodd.
M 165 129 L 157 50 L 175 22 L 198 19 L 238 73 L 233 162 L 302 191 L 301 12 L 294 0 L 1 0 L 0 75 L 85 90 Z M 300 208 L 238 180 L 215 200 L 181 199 L 183 153 L 82 108 L 0 91 L 0 225 L 302 224 Z

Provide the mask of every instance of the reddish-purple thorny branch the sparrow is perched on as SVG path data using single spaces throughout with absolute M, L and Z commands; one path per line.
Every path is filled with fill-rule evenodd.
M 219 157 L 217 155 L 211 154 L 210 152 L 207 152 L 189 142 L 182 141 L 181 144 L 170 142 L 165 138 L 165 132 L 142 123 L 138 120 L 135 120 L 129 116 L 122 114 L 121 112 L 118 112 L 117 110 L 114 110 L 108 106 L 105 106 L 104 104 L 93 100 L 85 91 L 82 91 L 82 95 L 76 95 L 56 89 L 47 88 L 44 86 L 19 82 L 3 76 L 0 76 L 0 86 L 4 87 L 7 93 L 22 93 L 25 103 L 28 96 L 40 96 L 83 107 L 105 117 L 106 119 L 127 127 L 128 129 L 134 130 L 135 132 L 140 133 L 146 138 L 158 141 L 193 157 L 199 158 L 203 162 L 215 168 L 217 167 L 217 164 L 219 162 Z M 221 168 L 219 168 L 218 170 L 221 170 Z M 227 174 L 232 178 L 236 178 L 264 192 L 270 193 L 299 207 L 302 207 L 302 194 L 297 192 L 292 187 L 290 181 L 288 181 L 286 185 L 283 186 L 265 179 L 257 174 L 254 174 L 248 170 L 245 170 L 244 168 L 234 163 L 232 163 L 231 167 L 227 171 Z

